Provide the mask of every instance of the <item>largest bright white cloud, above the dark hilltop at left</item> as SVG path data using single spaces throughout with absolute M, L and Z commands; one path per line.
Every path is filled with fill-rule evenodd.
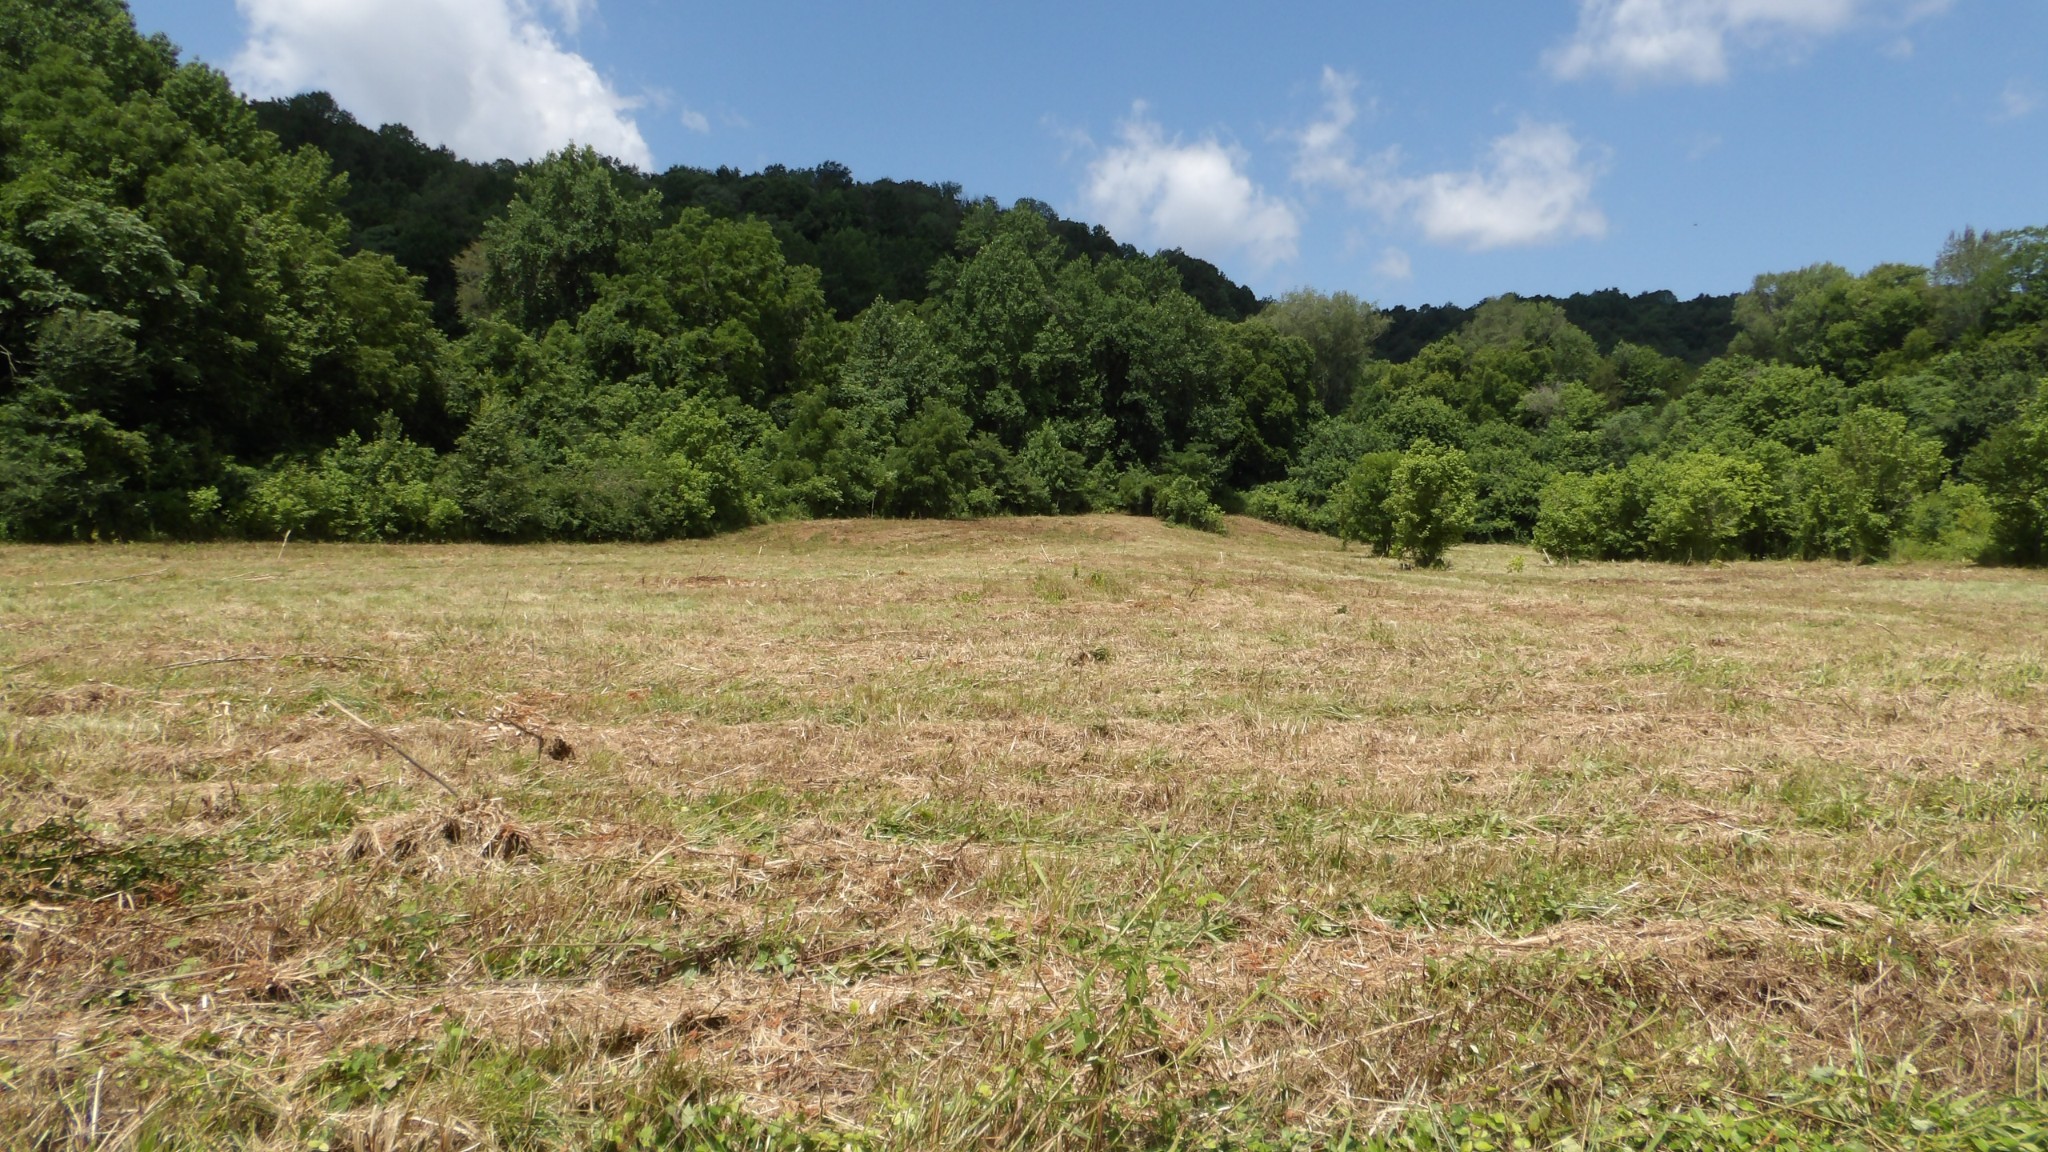
M 653 166 L 621 96 L 524 0 L 236 0 L 250 39 L 229 72 L 254 96 L 324 88 L 369 123 L 406 123 L 473 160 L 569 141 Z M 573 29 L 594 0 L 549 0 Z

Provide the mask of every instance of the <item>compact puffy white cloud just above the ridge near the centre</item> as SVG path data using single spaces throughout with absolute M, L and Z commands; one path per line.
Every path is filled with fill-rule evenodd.
M 1294 209 L 1245 174 L 1245 156 L 1204 137 L 1167 139 L 1139 105 L 1122 141 L 1087 166 L 1081 193 L 1110 232 L 1212 256 L 1237 250 L 1260 266 L 1292 260 L 1300 242 Z

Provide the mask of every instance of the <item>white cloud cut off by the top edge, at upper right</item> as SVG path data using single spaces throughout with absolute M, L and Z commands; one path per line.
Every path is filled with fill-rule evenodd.
M 1712 84 L 1739 47 L 1798 47 L 1862 20 L 1913 25 L 1954 0 L 1579 0 L 1579 31 L 1544 64 L 1565 80 Z M 1903 41 L 1901 43 L 1911 43 Z M 1896 51 L 1896 43 L 1892 45 Z

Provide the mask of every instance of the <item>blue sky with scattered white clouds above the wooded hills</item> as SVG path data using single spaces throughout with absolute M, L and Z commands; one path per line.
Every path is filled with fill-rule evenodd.
M 2044 0 L 131 0 L 473 160 L 846 164 L 1260 293 L 1741 291 L 2048 225 Z

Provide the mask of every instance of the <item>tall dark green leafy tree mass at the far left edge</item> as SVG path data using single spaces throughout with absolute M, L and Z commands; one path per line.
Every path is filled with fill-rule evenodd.
M 440 420 L 420 285 L 338 184 L 111 0 L 0 0 L 8 533 L 199 531 L 238 465 Z M 41 496 L 37 496 L 41 494 Z

